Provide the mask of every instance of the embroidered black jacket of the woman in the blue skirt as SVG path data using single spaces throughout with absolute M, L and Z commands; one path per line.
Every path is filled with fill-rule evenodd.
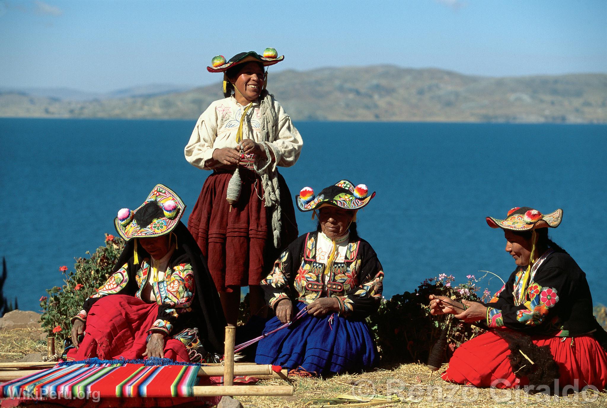
M 272 272 L 261 282 L 271 307 L 285 298 L 307 304 L 322 297 L 339 301 L 340 315 L 364 318 L 379 307 L 384 271 L 377 254 L 363 239 L 348 239 L 343 259 L 326 271 L 316 251 L 317 231 L 300 236 L 287 247 Z M 337 262 L 340 261 L 340 262 Z

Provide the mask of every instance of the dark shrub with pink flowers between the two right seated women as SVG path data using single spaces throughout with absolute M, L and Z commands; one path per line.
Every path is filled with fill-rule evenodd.
M 487 290 L 482 298 L 476 294 L 480 288 L 475 285 L 476 280 L 472 275 L 468 275 L 465 284 L 457 287 L 452 287 L 453 280 L 453 276 L 441 274 L 426 279 L 412 293 L 396 294 L 392 299 L 382 301 L 378 313 L 368 318 L 368 324 L 375 336 L 383 363 L 425 363 L 430 349 L 446 324 L 450 325 L 447 358 L 450 358 L 458 345 L 484 332 L 481 328 L 464 324 L 457 319 L 448 319 L 445 315 L 430 315 L 430 294 L 449 296 L 456 301 L 479 301 L 490 297 Z

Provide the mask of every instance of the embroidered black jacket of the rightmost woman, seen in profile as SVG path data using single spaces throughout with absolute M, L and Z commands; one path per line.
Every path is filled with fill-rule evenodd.
M 561 337 L 597 328 L 586 274 L 569 254 L 548 250 L 535 262 L 531 276 L 525 275 L 526 267 L 518 267 L 485 304 L 489 327 Z

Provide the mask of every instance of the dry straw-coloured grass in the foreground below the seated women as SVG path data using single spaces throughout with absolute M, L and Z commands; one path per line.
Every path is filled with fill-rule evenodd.
M 477 389 L 446 383 L 438 373 L 432 373 L 421 364 L 403 364 L 394 370 L 377 369 L 358 375 L 337 375 L 328 379 L 295 378 L 290 380 L 295 388 L 293 396 L 240 396 L 245 408 L 314 408 L 322 403 L 314 398 L 334 398 L 345 394 L 363 396 L 373 393 L 396 393 L 399 403 L 378 401 L 373 407 L 526 407 L 532 404 L 544 407 L 605 407 L 607 393 L 575 393 L 568 397 L 531 395 L 524 390 Z M 265 380 L 260 385 L 284 384 L 283 381 Z M 359 406 L 367 406 L 361 401 Z M 356 404 L 352 401 L 343 407 Z M 337 402 L 333 404 L 339 404 Z M 330 406 L 325 404 L 325 406 Z M 338 407 L 340 405 L 331 405 Z

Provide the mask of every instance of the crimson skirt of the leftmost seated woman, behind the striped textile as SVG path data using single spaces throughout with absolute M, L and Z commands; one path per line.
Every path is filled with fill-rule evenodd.
M 78 349 L 67 352 L 67 359 L 143 358 L 148 344 L 148 329 L 156 321 L 157 314 L 157 304 L 146 303 L 135 296 L 104 296 L 90 308 L 84 339 Z M 164 344 L 164 357 L 173 361 L 190 361 L 185 344 L 175 339 L 168 339 Z

